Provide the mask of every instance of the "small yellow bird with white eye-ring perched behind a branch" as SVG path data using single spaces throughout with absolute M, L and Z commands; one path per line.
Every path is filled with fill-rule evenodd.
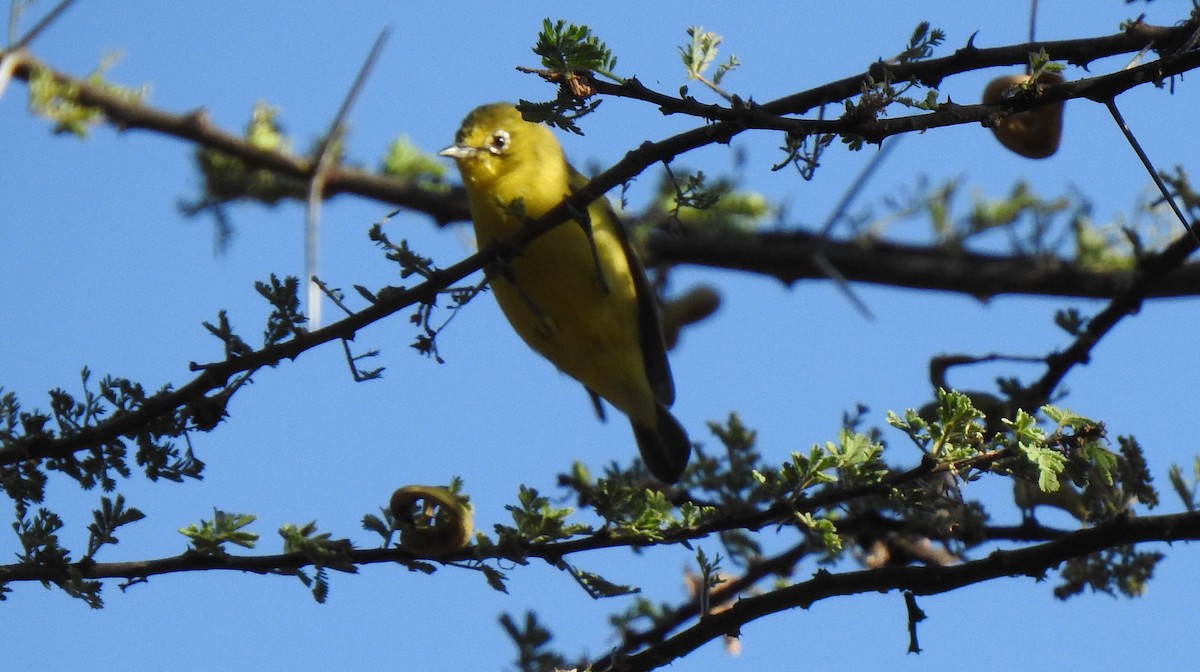
M 440 154 L 462 173 L 480 248 L 588 181 L 550 128 L 526 121 L 509 103 L 474 109 Z M 583 383 L 593 400 L 629 416 L 650 473 L 674 482 L 691 444 L 667 410 L 674 382 L 654 294 L 608 202 L 596 199 L 587 212 L 588 222 L 565 222 L 509 259 L 491 278 L 492 290 L 529 347 Z

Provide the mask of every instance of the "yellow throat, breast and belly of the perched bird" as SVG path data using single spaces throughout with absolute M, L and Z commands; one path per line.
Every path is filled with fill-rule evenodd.
M 526 220 L 540 217 L 570 193 L 570 168 L 557 139 L 545 134 L 554 151 L 532 148 L 533 154 L 487 155 L 462 164 L 480 248 L 520 230 Z M 491 286 L 505 317 L 533 349 L 630 418 L 654 426 L 656 407 L 620 224 L 602 200 L 588 212 L 595 258 L 581 224 L 565 222 L 502 264 Z

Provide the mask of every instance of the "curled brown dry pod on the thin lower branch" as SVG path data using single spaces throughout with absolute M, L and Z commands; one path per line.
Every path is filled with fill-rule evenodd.
M 415 556 L 464 548 L 475 530 L 470 505 L 440 486 L 406 485 L 391 494 L 390 509 L 400 529 L 400 547 Z

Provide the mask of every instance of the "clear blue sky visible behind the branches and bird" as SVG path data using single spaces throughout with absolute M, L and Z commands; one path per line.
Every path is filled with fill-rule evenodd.
M 121 53 L 110 79 L 150 85 L 149 102 L 174 112 L 203 107 L 220 126 L 240 130 L 259 100 L 281 109 L 282 121 L 305 148 L 328 127 L 361 59 L 384 26 L 392 28 L 350 119 L 348 156 L 373 166 L 398 133 L 436 151 L 450 143 L 461 118 L 496 100 L 547 98 L 535 77 L 529 47 L 545 17 L 586 23 L 618 56 L 620 74 L 673 92 L 685 84 L 676 47 L 689 25 L 725 37 L 725 54 L 743 66 L 726 84 L 743 97 L 766 101 L 860 72 L 900 50 L 919 20 L 948 34 L 940 54 L 964 44 L 1024 41 L 1026 2 L 982 5 L 926 1 L 874 4 L 851 11 L 836 4 L 716 2 L 570 6 L 563 4 L 440 4 L 401 7 L 360 2 L 353 11 L 318 2 L 121 4 L 79 2 L 42 38 L 34 53 L 74 74 Z M 1115 32 L 1120 20 L 1142 11 L 1151 23 L 1182 18 L 1184 2 L 1126 6 L 1042 2 L 1039 36 L 1069 38 Z M 469 8 L 466 8 L 469 7 Z M 44 11 L 38 2 L 35 11 Z M 26 22 L 28 25 L 29 22 Z M 1093 65 L 1100 73 L 1122 59 Z M 942 89 L 959 102 L 978 100 L 1000 72 L 955 78 Z M 1068 77 L 1082 77 L 1076 68 Z M 700 92 L 692 86 L 694 92 Z M 25 88 L 13 83 L 0 98 L 0 385 L 26 408 L 47 406 L 46 390 L 76 391 L 79 370 L 139 380 L 148 388 L 180 385 L 188 361 L 221 356 L 220 343 L 200 326 L 220 308 L 254 342 L 265 305 L 253 292 L 271 272 L 301 275 L 304 211 L 284 204 L 235 208 L 236 235 L 215 254 L 209 220 L 185 220 L 178 203 L 198 194 L 199 178 L 187 144 L 145 132 L 97 128 L 88 142 L 53 137 L 31 116 Z M 1140 88 L 1120 98 L 1122 112 L 1160 167 L 1194 162 L 1200 100 L 1189 82 L 1174 96 Z M 564 137 L 578 164 L 608 166 L 646 139 L 692 127 L 646 106 L 607 101 L 589 118 L 584 137 Z M 828 214 L 871 151 L 830 151 L 814 182 L 794 173 L 769 173 L 780 138 L 745 136 L 745 184 L 784 203 L 786 227 L 812 228 Z M 706 149 L 680 164 L 724 174 L 726 148 Z M 1193 173 L 1196 173 L 1193 163 Z M 635 204 L 647 197 L 653 173 L 635 184 Z M 978 126 L 908 138 L 892 155 L 860 200 L 882 211 L 882 199 L 913 187 L 919 176 L 960 178 L 979 193 L 1000 197 L 1018 179 L 1039 193 L 1078 188 L 1094 200 L 1097 221 L 1128 212 L 1147 193 L 1148 180 L 1103 106 L 1072 102 L 1060 154 L 1043 162 L 1015 157 Z M 323 220 L 319 274 L 330 284 L 397 283 L 395 268 L 366 238 L 389 208 L 338 197 Z M 900 223 L 889 233 L 922 235 L 924 223 Z M 467 229 L 438 230 L 421 216 L 388 223 L 440 265 L 469 252 Z M 930 396 L 926 362 L 940 353 L 1045 354 L 1064 347 L 1054 312 L 1074 305 L 1085 313 L 1099 302 L 1000 298 L 989 304 L 913 290 L 857 287 L 876 314 L 865 320 L 827 282 L 791 288 L 778 282 L 703 269 L 673 274 L 676 287 L 707 282 L 724 295 L 721 312 L 685 334 L 672 353 L 679 400 L 674 412 L 694 439 L 712 445 L 704 422 L 737 410 L 758 430 L 760 448 L 782 461 L 835 437 L 841 413 L 863 402 L 881 424 L 888 409 L 919 406 Z M 1111 434 L 1133 433 L 1150 452 L 1160 490 L 1166 467 L 1190 464 L 1196 452 L 1190 422 L 1195 366 L 1183 353 L 1198 324 L 1195 300 L 1147 304 L 1121 323 L 1094 360 L 1067 379 L 1063 402 L 1108 422 Z M 326 306 L 326 314 L 332 308 Z M 209 464 L 205 478 L 184 485 L 133 479 L 121 488 L 148 514 L 118 547 L 100 559 L 173 556 L 185 548 L 175 530 L 214 508 L 258 515 L 263 552 L 277 552 L 275 529 L 317 520 L 335 536 L 361 545 L 374 540 L 359 528 L 391 491 L 412 482 L 466 480 L 476 524 L 508 522 L 503 506 L 517 485 L 552 490 L 554 474 L 572 460 L 594 468 L 629 460 L 636 451 L 622 421 L 595 421 L 576 383 L 529 353 L 484 298 L 460 314 L 439 340 L 437 365 L 414 354 L 414 330 L 396 316 L 362 331 L 355 347 L 380 348 L 383 380 L 356 384 L 338 348 L 301 355 L 259 373 L 232 404 L 232 419 L 197 438 Z M 1038 370 L 991 368 L 952 378 L 982 388 L 998 374 Z M 916 452 L 890 437 L 896 462 Z M 995 515 L 1015 522 L 1002 499 L 1007 486 L 972 484 L 968 496 L 997 502 Z M 1180 505 L 1163 492 L 1164 510 Z M 97 493 L 80 494 L 54 482 L 48 504 L 67 521 L 64 541 L 82 546 Z M 1007 518 L 1004 518 L 1007 516 Z M 1044 516 L 1048 522 L 1068 524 Z M 780 544 L 786 542 L 781 533 Z M 715 542 L 706 542 L 715 551 Z M 0 535 L 0 552 L 17 540 Z M 10 556 L 11 557 L 11 556 Z M 680 571 L 691 553 L 655 550 L 641 556 L 608 552 L 582 559 L 614 581 L 646 587 L 652 599 L 683 599 Z M 1058 602 L 1050 584 L 1002 580 L 950 595 L 925 598 L 920 656 L 905 654 L 902 599 L 863 595 L 821 602 L 752 624 L 743 654 L 728 659 L 719 643 L 695 655 L 688 668 L 775 670 L 793 667 L 944 668 L 971 660 L 974 670 L 1050 668 L 1063 664 L 1097 670 L 1145 665 L 1180 668 L 1193 656 L 1181 642 L 1193 636 L 1190 605 L 1195 550 L 1177 546 L 1146 596 L 1112 600 L 1085 595 Z M 800 568 L 798 578 L 812 571 Z M 400 568 L 371 566 L 359 576 L 335 575 L 326 605 L 317 605 L 289 577 L 209 572 L 155 577 L 122 593 L 106 589 L 107 608 L 38 586 L 18 586 L 0 605 L 5 653 L 13 668 L 94 670 L 294 670 L 378 668 L 496 670 L 514 650 L 497 624 L 500 612 L 536 608 L 568 654 L 601 655 L 613 641 L 607 616 L 617 601 L 588 600 L 565 575 L 546 566 L 514 568 L 510 594 L 481 577 L 446 569 L 432 577 Z

